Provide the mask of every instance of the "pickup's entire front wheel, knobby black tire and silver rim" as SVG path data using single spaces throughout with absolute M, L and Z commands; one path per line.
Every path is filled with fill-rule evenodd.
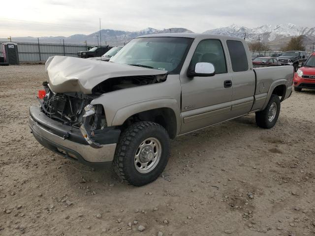
M 113 161 L 115 172 L 124 181 L 142 186 L 156 180 L 169 156 L 169 136 L 159 124 L 140 121 L 122 134 Z

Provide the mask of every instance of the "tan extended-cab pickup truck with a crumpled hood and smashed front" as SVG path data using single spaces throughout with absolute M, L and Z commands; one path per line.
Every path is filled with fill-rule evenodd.
M 154 181 L 170 139 L 249 113 L 273 127 L 293 67 L 252 68 L 243 39 L 151 34 L 109 62 L 51 57 L 29 125 L 44 147 L 88 165 L 112 162 L 129 184 Z M 210 131 L 209 131 L 210 132 Z

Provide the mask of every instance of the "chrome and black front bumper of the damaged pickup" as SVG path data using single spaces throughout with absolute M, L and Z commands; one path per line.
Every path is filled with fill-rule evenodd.
M 44 147 L 86 165 L 101 165 L 114 158 L 120 130 L 105 131 L 101 148 L 92 148 L 80 131 L 52 120 L 40 111 L 40 107 L 31 106 L 29 126 L 35 139 Z M 62 135 L 66 134 L 66 136 Z

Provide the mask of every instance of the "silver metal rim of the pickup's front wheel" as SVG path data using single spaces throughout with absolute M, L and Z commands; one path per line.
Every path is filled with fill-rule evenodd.
M 162 153 L 161 143 L 156 138 L 148 138 L 140 143 L 134 155 L 134 167 L 141 174 L 153 171 Z

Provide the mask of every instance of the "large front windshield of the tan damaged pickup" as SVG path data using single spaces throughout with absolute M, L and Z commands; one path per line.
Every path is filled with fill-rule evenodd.
M 135 38 L 110 61 L 179 73 L 192 41 L 179 37 Z

